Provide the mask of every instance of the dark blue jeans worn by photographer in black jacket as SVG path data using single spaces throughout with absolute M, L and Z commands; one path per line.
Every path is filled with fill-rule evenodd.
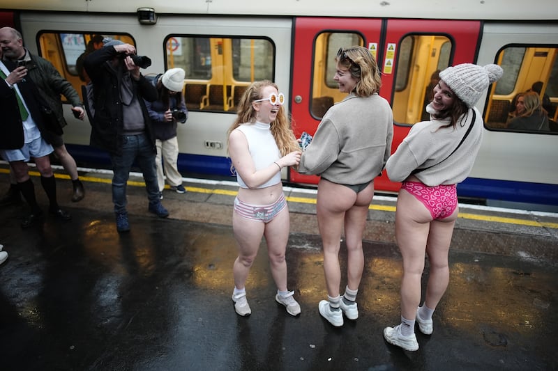
M 156 152 L 145 134 L 124 136 L 121 155 L 110 156 L 114 173 L 112 176 L 112 202 L 116 214 L 126 212 L 126 184 L 134 161 L 140 166 L 144 175 L 149 203 L 160 203 L 155 156 Z

